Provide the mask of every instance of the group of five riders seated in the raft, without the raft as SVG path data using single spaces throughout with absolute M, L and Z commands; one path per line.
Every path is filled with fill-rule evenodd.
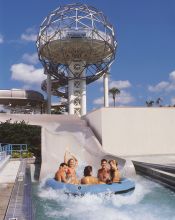
M 76 175 L 77 167 L 77 158 L 69 151 L 66 151 L 64 162 L 60 164 L 58 171 L 55 173 L 54 179 L 69 184 L 92 185 L 120 183 L 120 172 L 116 160 L 107 161 L 106 159 L 102 159 L 101 168 L 98 170 L 97 177 L 92 176 L 93 168 L 88 165 L 84 168 L 84 176 L 79 180 Z

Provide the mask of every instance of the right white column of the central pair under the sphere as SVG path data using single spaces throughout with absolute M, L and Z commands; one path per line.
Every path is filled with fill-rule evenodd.
M 82 76 L 85 77 L 85 71 L 83 71 Z M 81 116 L 86 115 L 86 80 L 81 81 Z

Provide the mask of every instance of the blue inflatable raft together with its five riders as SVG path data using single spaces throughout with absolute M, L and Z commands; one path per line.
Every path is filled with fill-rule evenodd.
M 92 166 L 84 168 L 84 176 L 78 179 L 76 169 L 77 158 L 69 151 L 65 152 L 64 162 L 60 164 L 54 178 L 45 182 L 46 187 L 55 190 L 63 190 L 66 194 L 85 195 L 99 193 L 126 193 L 134 190 L 135 183 L 127 178 L 121 178 L 116 160 L 101 160 L 101 168 L 97 177 L 92 175 Z

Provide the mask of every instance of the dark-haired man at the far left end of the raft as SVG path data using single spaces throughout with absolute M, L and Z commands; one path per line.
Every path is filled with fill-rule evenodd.
M 63 183 L 67 183 L 67 170 L 68 166 L 66 163 L 61 163 L 58 171 L 55 173 L 55 180 Z

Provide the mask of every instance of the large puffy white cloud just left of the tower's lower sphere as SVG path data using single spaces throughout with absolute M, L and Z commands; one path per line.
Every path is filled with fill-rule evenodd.
M 11 66 L 11 78 L 27 84 L 41 84 L 46 78 L 42 68 L 36 69 L 33 65 L 18 63 Z

